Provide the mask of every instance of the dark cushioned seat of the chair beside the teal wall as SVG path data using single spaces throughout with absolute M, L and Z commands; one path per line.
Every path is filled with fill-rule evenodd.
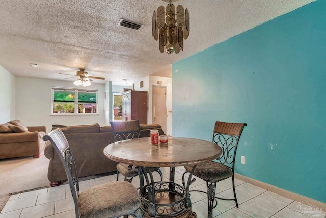
M 188 172 L 191 172 L 193 165 L 184 167 Z M 229 167 L 209 161 L 198 164 L 195 168 L 194 175 L 207 181 L 221 181 L 232 176 L 232 171 Z

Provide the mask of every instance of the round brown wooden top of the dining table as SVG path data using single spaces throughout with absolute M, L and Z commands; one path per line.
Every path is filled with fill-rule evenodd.
M 150 137 L 109 144 L 104 155 L 130 165 L 173 167 L 198 164 L 218 158 L 222 150 L 215 143 L 195 138 L 169 137 L 168 144 L 151 144 Z

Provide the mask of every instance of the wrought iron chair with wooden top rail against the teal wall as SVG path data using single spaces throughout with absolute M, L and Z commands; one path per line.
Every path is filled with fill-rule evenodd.
M 235 164 L 235 155 L 238 146 L 238 142 L 242 133 L 244 126 L 247 124 L 244 123 L 226 123 L 216 121 L 213 131 L 212 142 L 216 143 L 222 148 L 222 154 L 219 159 L 214 161 L 206 162 L 203 164 L 198 164 L 195 168 L 193 175 L 203 179 L 207 184 L 207 199 L 208 199 L 208 218 L 212 217 L 213 208 L 217 206 L 217 202 L 214 204 L 215 197 L 215 188 L 216 183 L 225 180 L 229 177 L 232 177 L 232 186 L 233 186 L 233 199 L 224 199 L 222 200 L 232 200 L 235 201 L 236 207 L 238 208 L 238 201 L 235 194 L 234 186 L 234 164 Z M 193 166 L 185 166 L 186 172 L 183 174 L 183 177 L 186 173 L 191 172 Z

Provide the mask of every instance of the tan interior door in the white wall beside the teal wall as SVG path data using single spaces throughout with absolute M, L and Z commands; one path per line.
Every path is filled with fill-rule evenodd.
M 153 86 L 153 124 L 162 126 L 167 133 L 167 87 Z

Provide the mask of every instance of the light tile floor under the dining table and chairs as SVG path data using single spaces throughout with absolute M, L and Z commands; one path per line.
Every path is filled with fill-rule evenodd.
M 169 168 L 161 168 L 164 173 L 164 180 L 169 180 Z M 182 183 L 183 167 L 176 167 L 175 181 Z M 154 172 L 155 180 L 159 180 L 159 175 Z M 119 176 L 119 180 L 123 180 Z M 116 175 L 100 177 L 96 179 L 79 182 L 80 192 L 105 182 L 116 180 Z M 132 184 L 139 186 L 139 178 L 134 178 Z M 293 201 L 276 193 L 259 188 L 252 184 L 235 180 L 236 194 L 239 208 L 235 207 L 234 201 L 219 200 L 218 206 L 213 209 L 213 217 L 218 218 L 244 218 L 244 217 L 272 217 L 272 218 L 309 218 L 311 213 L 304 213 L 303 209 L 308 205 Z M 206 182 L 196 178 L 191 185 L 192 190 L 206 191 Z M 233 197 L 232 181 L 227 179 L 216 185 L 216 195 L 224 198 Z M 191 192 L 193 211 L 198 218 L 207 217 L 206 194 L 201 192 Z M 309 212 L 309 210 L 308 210 Z M 322 211 L 321 211 L 322 212 Z M 319 217 L 326 217 L 321 213 Z M 310 215 L 310 216 L 309 216 Z M 30 192 L 12 195 L 0 213 L 0 218 L 73 218 L 74 204 L 68 185 L 44 188 Z M 316 217 L 316 216 L 315 216 Z

